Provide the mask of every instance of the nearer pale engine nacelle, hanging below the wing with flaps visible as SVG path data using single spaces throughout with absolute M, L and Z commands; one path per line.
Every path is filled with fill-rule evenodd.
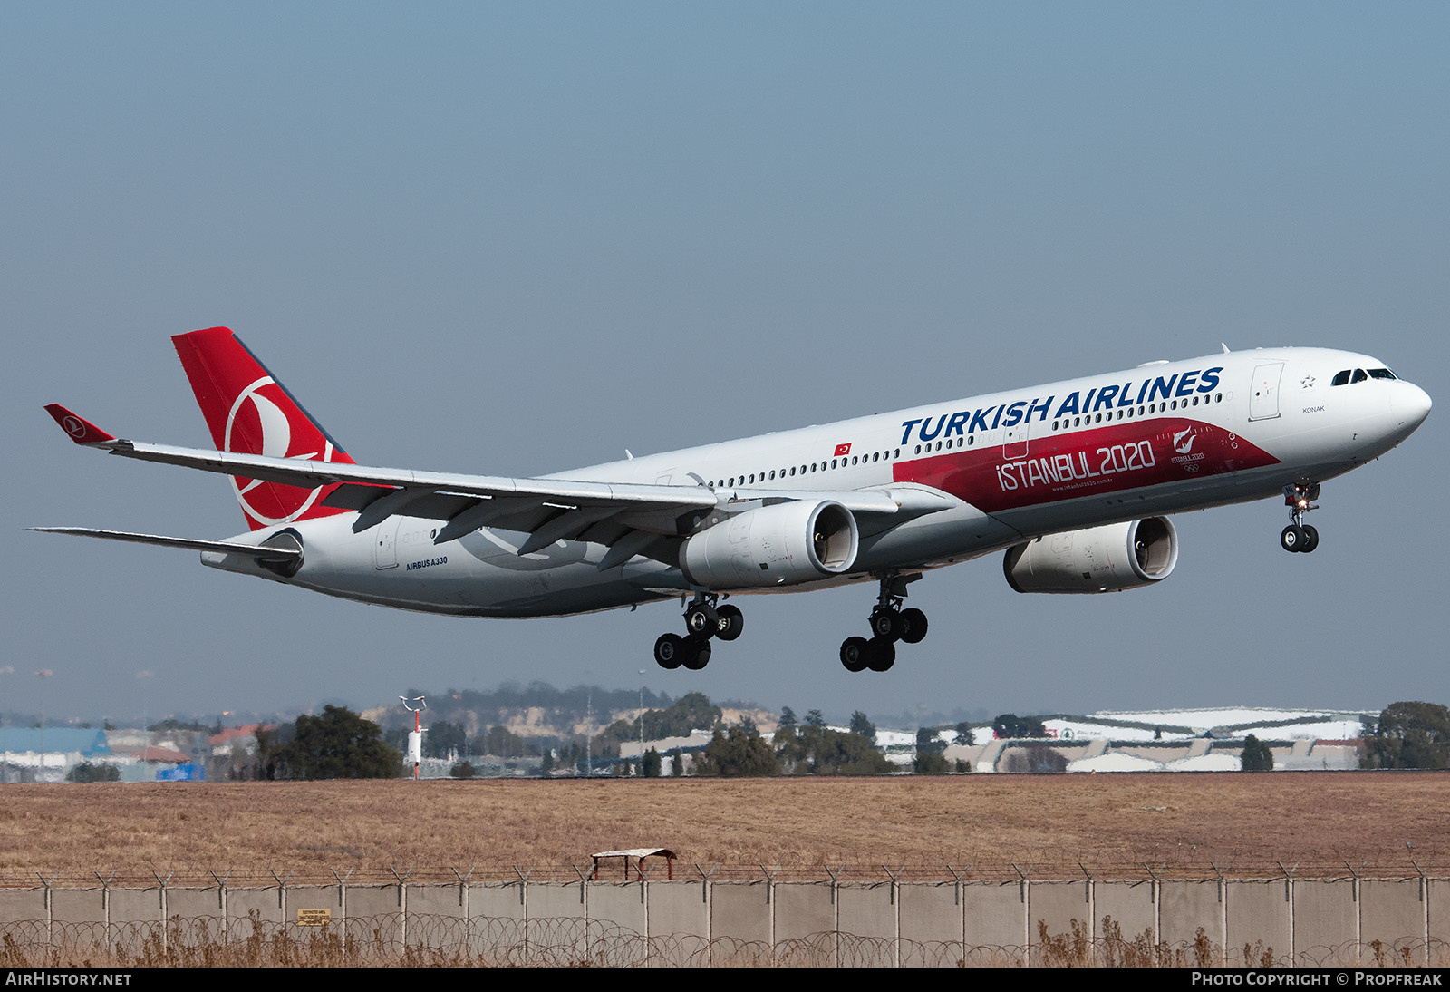
M 680 566 L 706 589 L 793 586 L 847 571 L 858 547 L 851 511 L 796 500 L 745 511 L 692 535 Z

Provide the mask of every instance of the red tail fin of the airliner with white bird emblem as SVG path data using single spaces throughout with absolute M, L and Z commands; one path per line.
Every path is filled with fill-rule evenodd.
M 178 334 L 171 342 L 218 451 L 352 464 L 235 334 L 209 328 Z M 347 512 L 322 505 L 332 486 L 307 490 L 233 476 L 232 489 L 254 531 Z

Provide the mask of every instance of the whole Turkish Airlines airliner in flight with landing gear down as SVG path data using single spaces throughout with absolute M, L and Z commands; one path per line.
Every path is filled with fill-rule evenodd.
M 45 409 L 75 444 L 231 477 L 249 531 L 226 541 L 33 528 L 200 551 L 202 564 L 432 613 L 561 616 L 679 598 L 664 669 L 734 641 L 732 595 L 877 583 L 841 664 L 886 671 L 927 635 L 927 571 L 1002 554 L 1021 593 L 1151 586 L 1173 513 L 1283 496 L 1286 551 L 1320 484 L 1378 458 L 1430 396 L 1369 355 L 1230 351 L 876 413 L 539 479 L 357 464 L 226 328 L 173 338 L 212 448 L 117 438 Z M 629 452 L 626 451 L 626 455 Z

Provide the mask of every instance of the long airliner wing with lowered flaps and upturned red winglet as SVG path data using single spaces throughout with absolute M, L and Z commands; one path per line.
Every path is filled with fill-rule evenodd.
M 648 554 L 645 548 L 657 538 L 689 534 L 699 522 L 696 518 L 728 508 L 732 502 L 831 499 L 853 513 L 890 518 L 919 516 L 957 502 L 916 487 L 900 493 L 895 489 L 799 493 L 738 489 L 725 495 L 705 486 L 509 479 L 274 458 L 128 441 L 102 431 L 58 403 L 46 406 L 46 410 L 77 444 L 126 458 L 300 489 L 331 486 L 334 489 L 323 496 L 322 503 L 358 511 L 354 532 L 399 515 L 442 521 L 435 544 L 452 541 L 481 526 L 499 526 L 531 535 L 519 554 L 531 554 L 560 540 L 589 540 L 610 545 L 619 554 L 608 555 L 608 564 L 600 567 L 618 564 L 629 554 Z

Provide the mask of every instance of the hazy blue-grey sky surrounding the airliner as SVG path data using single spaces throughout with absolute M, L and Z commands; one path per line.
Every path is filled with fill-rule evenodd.
M 667 605 L 415 616 L 22 529 L 242 529 L 223 480 L 72 450 L 39 409 L 204 444 L 167 338 L 213 325 L 360 461 L 490 474 L 1221 341 L 1367 351 L 1444 403 L 1447 29 L 1428 3 L 9 4 L 0 709 L 641 669 L 903 719 L 1450 700 L 1441 410 L 1325 484 L 1312 557 L 1264 502 L 1177 518 L 1148 590 L 957 566 L 887 676 L 835 658 L 867 587 L 751 598 L 709 669 L 661 673 Z

